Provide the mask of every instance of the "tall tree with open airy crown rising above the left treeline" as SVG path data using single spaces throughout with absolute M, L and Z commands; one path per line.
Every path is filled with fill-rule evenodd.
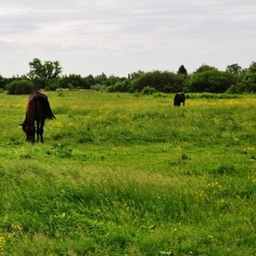
M 59 61 L 40 61 L 38 58 L 29 62 L 30 72 L 27 74 L 30 79 L 57 79 L 62 67 Z

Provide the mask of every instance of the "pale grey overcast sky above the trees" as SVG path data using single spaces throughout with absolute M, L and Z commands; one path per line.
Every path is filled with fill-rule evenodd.
M 246 68 L 256 61 L 256 1 L 1 1 L 0 74 L 24 75 L 34 58 L 82 77 Z

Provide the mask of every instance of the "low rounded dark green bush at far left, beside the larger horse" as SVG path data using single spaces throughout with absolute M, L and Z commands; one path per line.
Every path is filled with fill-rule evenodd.
M 7 90 L 11 95 L 30 94 L 34 90 L 34 86 L 30 80 L 14 80 L 7 85 Z

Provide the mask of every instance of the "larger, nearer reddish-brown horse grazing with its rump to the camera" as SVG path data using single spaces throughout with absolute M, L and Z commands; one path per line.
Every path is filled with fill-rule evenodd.
M 28 96 L 28 103 L 26 106 L 26 118 L 20 126 L 26 133 L 26 141 L 35 142 L 35 133 L 37 131 L 38 141 L 44 143 L 44 121 L 45 119 L 55 119 L 55 115 L 52 113 L 49 107 L 48 97 L 41 92 L 32 92 Z M 35 127 L 35 121 L 37 122 L 37 130 Z

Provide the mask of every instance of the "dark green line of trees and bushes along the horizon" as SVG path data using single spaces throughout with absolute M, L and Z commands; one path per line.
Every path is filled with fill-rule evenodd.
M 188 73 L 181 65 L 177 72 L 141 70 L 129 73 L 127 77 L 116 77 L 105 73 L 82 77 L 79 74 L 61 75 L 59 61 L 29 62 L 30 71 L 26 75 L 3 78 L 0 75 L 0 90 L 9 94 L 28 94 L 34 90 L 106 90 L 108 92 L 164 93 L 211 92 L 211 93 L 254 93 L 256 92 L 256 62 L 247 68 L 237 63 L 220 71 L 216 67 L 201 65 L 195 72 Z

